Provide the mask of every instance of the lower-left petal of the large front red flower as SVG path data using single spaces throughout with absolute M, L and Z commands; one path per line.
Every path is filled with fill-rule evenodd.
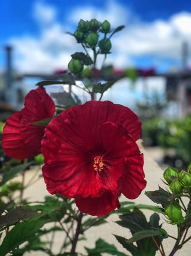
M 58 193 L 68 198 L 88 195 L 99 196 L 103 192 L 102 181 L 91 166 L 77 162 L 62 164 L 45 164 L 43 166 L 44 181 L 49 193 Z

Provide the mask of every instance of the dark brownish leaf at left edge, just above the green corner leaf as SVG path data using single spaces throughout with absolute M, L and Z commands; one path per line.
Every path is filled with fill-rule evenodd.
M 0 228 L 10 226 L 13 223 L 20 222 L 20 220 L 25 220 L 36 215 L 38 213 L 34 210 L 17 207 L 0 217 Z

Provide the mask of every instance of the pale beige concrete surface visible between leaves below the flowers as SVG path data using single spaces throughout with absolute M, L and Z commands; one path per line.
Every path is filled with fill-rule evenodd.
M 147 180 L 147 187 L 145 191 L 148 190 L 157 190 L 158 185 L 162 186 L 165 188 L 165 184 L 162 182 L 163 178 L 163 171 L 160 169 L 158 164 L 151 158 L 152 152 L 151 150 L 149 153 L 140 146 L 141 151 L 144 152 L 144 159 L 145 159 L 145 164 L 144 164 L 144 170 L 145 170 L 145 177 Z M 31 170 L 26 174 L 26 182 L 31 179 L 31 176 L 34 175 L 35 170 Z M 25 192 L 25 197 L 29 198 L 30 201 L 41 201 L 43 200 L 44 196 L 49 195 L 49 193 L 46 190 L 46 186 L 44 184 L 43 179 L 41 178 L 40 180 L 37 181 L 33 186 L 29 187 L 26 192 Z M 129 201 L 129 199 L 124 198 L 124 196 L 121 196 L 120 201 Z M 147 198 L 147 196 L 144 195 L 144 192 L 141 193 L 141 196 L 139 196 L 138 199 L 136 199 L 134 202 L 136 203 L 141 203 L 141 204 L 154 204 L 150 199 Z M 151 211 L 145 210 L 145 215 L 147 218 L 150 217 L 152 214 Z M 84 246 L 88 246 L 88 248 L 91 248 L 94 246 L 94 243 L 97 239 L 102 238 L 105 239 L 107 242 L 114 244 L 121 252 L 126 253 L 127 255 L 130 255 L 129 252 L 127 252 L 121 245 L 120 243 L 117 242 L 113 234 L 117 234 L 119 236 L 123 237 L 130 237 L 130 232 L 128 229 L 121 228 L 117 223 L 115 223 L 115 220 L 118 219 L 117 214 L 114 214 L 112 216 L 108 217 L 108 223 L 93 227 L 86 231 L 86 241 L 79 242 L 77 245 L 77 251 L 79 252 L 84 252 L 85 250 L 83 249 Z M 169 234 L 172 236 L 176 236 L 176 228 L 175 226 L 168 225 L 165 223 L 165 220 L 162 219 L 163 228 L 165 228 Z M 57 248 L 59 248 L 59 245 L 62 243 L 64 240 L 64 234 L 61 235 L 61 233 L 57 233 L 55 236 L 55 242 L 53 245 L 53 249 L 56 252 Z M 165 248 L 166 256 L 169 254 L 171 251 L 173 245 L 174 245 L 174 240 L 173 239 L 166 239 L 163 240 L 163 245 Z M 43 252 L 31 252 L 26 254 L 26 256 L 43 256 Z M 107 254 L 105 254 L 107 255 Z M 160 255 L 159 252 L 157 252 L 156 255 Z M 181 249 L 176 256 L 190 256 L 191 255 L 191 241 L 188 242 L 183 249 Z

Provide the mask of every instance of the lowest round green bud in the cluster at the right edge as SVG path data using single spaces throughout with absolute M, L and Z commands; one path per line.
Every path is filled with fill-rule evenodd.
M 168 207 L 166 207 L 165 209 L 165 213 L 173 224 L 181 223 L 184 220 L 181 207 L 178 204 L 169 204 Z

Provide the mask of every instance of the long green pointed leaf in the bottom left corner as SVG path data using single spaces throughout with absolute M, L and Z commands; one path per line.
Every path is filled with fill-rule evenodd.
M 28 241 L 46 223 L 46 220 L 32 220 L 20 222 L 12 228 L 5 236 L 0 246 L 0 256 L 5 256 L 8 252 L 17 248 L 23 242 Z

